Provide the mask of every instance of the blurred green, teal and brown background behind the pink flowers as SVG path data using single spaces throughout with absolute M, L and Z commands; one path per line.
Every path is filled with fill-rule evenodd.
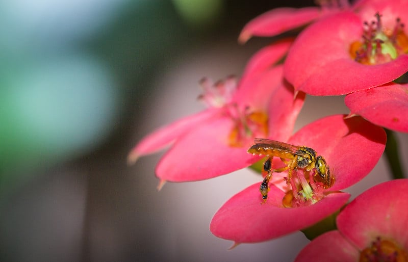
M 227 251 L 232 242 L 209 231 L 217 209 L 259 175 L 157 192 L 160 153 L 126 165 L 144 135 L 204 108 L 201 77 L 241 75 L 271 39 L 240 45 L 240 30 L 278 6 L 299 3 L 0 2 L 0 260 L 293 260 L 308 243 L 302 233 Z M 347 114 L 343 99 L 308 97 L 296 129 Z M 406 160 L 408 137 L 398 138 Z M 347 191 L 355 197 L 388 174 L 383 158 Z

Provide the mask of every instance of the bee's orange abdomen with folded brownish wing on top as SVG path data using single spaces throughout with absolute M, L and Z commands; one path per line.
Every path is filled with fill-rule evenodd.
M 267 154 L 267 155 L 295 155 L 298 154 L 298 146 L 294 146 L 288 143 L 269 140 L 265 138 L 254 139 L 255 145 L 248 149 L 249 153 L 255 154 Z

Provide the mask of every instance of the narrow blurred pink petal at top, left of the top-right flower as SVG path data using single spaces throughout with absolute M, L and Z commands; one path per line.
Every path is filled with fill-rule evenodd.
M 273 9 L 247 23 L 239 36 L 239 41 L 246 42 L 252 36 L 281 34 L 313 21 L 320 13 L 318 7 Z

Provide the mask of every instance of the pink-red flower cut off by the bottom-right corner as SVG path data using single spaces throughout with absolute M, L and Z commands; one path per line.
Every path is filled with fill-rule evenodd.
M 301 261 L 408 261 L 408 179 L 376 185 L 351 201 L 326 232 L 296 257 Z

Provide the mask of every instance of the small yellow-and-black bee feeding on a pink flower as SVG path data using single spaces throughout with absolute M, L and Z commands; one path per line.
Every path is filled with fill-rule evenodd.
M 306 171 L 311 171 L 313 168 L 316 169 L 315 175 L 319 175 L 323 184 L 329 188 L 332 184 L 330 179 L 330 169 L 324 160 L 323 156 L 316 156 L 317 153 L 313 148 L 306 146 L 294 146 L 284 142 L 256 138 L 254 139 L 254 145 L 248 149 L 248 153 L 254 155 L 266 155 L 269 158 L 265 161 L 263 169 L 267 172 L 259 191 L 262 194 L 262 199 L 264 202 L 268 198 L 269 192 L 269 180 L 273 173 L 280 173 L 288 170 L 288 177 L 285 178 L 289 184 L 292 177 L 293 170 L 305 169 Z M 272 159 L 274 156 L 281 158 L 281 160 L 286 164 L 285 167 L 272 169 Z

